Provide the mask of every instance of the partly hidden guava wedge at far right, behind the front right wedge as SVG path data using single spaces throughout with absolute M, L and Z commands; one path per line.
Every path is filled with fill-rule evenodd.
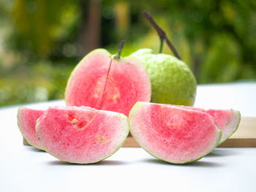
M 222 142 L 225 142 L 225 140 L 236 132 L 241 120 L 240 112 L 236 110 L 203 110 L 198 107 L 177 107 L 206 112 L 211 115 L 219 125 L 219 128 L 222 129 L 222 139 L 220 139 L 219 145 L 222 144 Z

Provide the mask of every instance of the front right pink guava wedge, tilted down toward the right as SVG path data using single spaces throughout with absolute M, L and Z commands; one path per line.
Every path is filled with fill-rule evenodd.
M 173 164 L 197 161 L 214 150 L 222 137 L 211 115 L 168 104 L 136 103 L 129 124 L 144 150 Z

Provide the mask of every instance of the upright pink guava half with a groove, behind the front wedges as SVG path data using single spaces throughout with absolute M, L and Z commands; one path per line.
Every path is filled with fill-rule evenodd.
M 111 63 L 111 64 L 110 64 Z M 75 67 L 67 83 L 67 106 L 89 106 L 129 115 L 136 101 L 150 101 L 151 82 L 135 58 L 112 59 L 94 50 Z

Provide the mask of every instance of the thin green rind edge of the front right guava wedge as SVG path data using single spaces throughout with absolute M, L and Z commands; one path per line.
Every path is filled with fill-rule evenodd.
M 132 107 L 132 110 L 129 112 L 129 118 L 132 116 L 132 112 L 135 110 L 135 108 L 140 104 L 140 102 L 137 102 L 133 107 Z M 129 118 L 128 118 L 128 121 L 129 121 Z M 130 133 L 132 134 L 132 129 L 131 129 L 131 126 L 129 125 L 129 131 Z M 222 130 L 219 128 L 218 130 L 219 132 L 219 137 L 217 139 L 217 142 L 215 143 L 214 147 L 211 148 L 211 150 L 209 150 L 208 152 L 206 152 L 205 154 L 201 155 L 199 158 L 196 158 L 196 159 L 193 159 L 191 161 L 184 161 L 184 162 L 173 162 L 173 161 L 167 161 L 163 158 L 159 158 L 157 155 L 154 155 L 152 153 L 150 153 L 148 150 L 146 150 L 146 148 L 144 148 L 142 145 L 140 145 L 140 142 L 138 142 L 138 140 L 136 139 L 136 137 L 132 134 L 132 137 L 133 139 L 135 139 L 135 141 L 138 143 L 138 145 L 140 145 L 140 147 L 143 148 L 143 150 L 146 150 L 147 153 L 149 153 L 150 155 L 152 155 L 154 158 L 158 158 L 159 160 L 162 160 L 162 161 L 165 161 L 165 162 L 168 162 L 170 164 L 189 164 L 189 163 L 192 163 L 192 162 L 195 162 L 195 161 L 198 161 L 200 158 L 203 158 L 204 156 L 208 155 L 208 153 L 211 153 L 218 145 L 219 145 L 219 141 L 220 139 L 222 139 Z

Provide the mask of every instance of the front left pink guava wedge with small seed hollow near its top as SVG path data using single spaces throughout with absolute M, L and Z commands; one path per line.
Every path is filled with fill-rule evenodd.
M 129 133 L 127 116 L 91 107 L 49 107 L 37 120 L 44 149 L 61 161 L 91 164 L 116 152 Z

